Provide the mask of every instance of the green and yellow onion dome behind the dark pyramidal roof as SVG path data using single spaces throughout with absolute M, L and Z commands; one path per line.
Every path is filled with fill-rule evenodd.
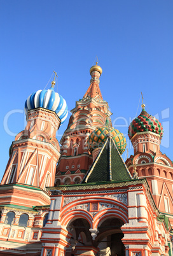
M 106 119 L 104 127 L 95 129 L 95 131 L 88 137 L 88 150 L 92 153 L 95 148 L 101 148 L 107 139 L 108 133 L 111 135 L 120 154 L 125 152 L 125 147 L 127 145 L 126 139 L 118 129 L 109 126 L 108 118 Z

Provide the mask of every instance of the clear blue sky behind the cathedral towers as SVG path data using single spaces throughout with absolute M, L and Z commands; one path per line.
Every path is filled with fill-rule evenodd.
M 25 127 L 25 99 L 44 89 L 55 70 L 55 90 L 73 109 L 88 89 L 96 55 L 113 124 L 127 135 L 130 120 L 140 113 L 142 91 L 146 110 L 159 117 L 165 130 L 161 151 L 173 160 L 172 14 L 171 0 L 1 0 L 0 178 L 13 135 Z

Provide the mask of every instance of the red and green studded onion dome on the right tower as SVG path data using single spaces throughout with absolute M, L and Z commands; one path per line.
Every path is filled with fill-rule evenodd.
M 128 137 L 131 139 L 137 132 L 154 132 L 163 137 L 163 127 L 158 120 L 149 115 L 145 110 L 145 104 L 142 104 L 142 112 L 136 117 L 128 127 Z

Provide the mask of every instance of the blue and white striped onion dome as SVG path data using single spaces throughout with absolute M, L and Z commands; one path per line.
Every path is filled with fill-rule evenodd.
M 27 115 L 27 111 L 34 108 L 46 108 L 47 110 L 55 111 L 61 120 L 61 124 L 64 123 L 68 115 L 65 99 L 57 92 L 54 92 L 53 87 L 48 90 L 38 90 L 27 98 L 25 101 L 25 114 Z

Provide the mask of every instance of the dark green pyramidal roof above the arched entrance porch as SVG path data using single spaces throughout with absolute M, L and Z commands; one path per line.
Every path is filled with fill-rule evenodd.
M 97 155 L 81 183 L 131 180 L 132 176 L 111 137 Z

